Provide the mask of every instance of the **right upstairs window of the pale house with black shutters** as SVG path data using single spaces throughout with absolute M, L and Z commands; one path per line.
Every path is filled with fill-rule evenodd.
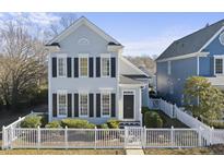
M 103 53 L 101 57 L 102 76 L 110 76 L 110 55 Z

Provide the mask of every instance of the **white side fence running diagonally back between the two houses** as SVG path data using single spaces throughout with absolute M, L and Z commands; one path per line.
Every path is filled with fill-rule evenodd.
M 170 118 L 176 118 L 191 129 L 200 130 L 200 134 L 207 144 L 224 144 L 224 129 L 213 129 L 191 115 L 188 115 L 176 105 L 163 99 L 150 99 L 149 108 L 162 110 Z

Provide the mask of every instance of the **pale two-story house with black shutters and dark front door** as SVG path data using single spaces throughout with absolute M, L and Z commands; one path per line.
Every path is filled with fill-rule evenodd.
M 141 124 L 149 76 L 121 56 L 123 46 L 116 39 L 80 17 L 46 46 L 49 121 L 79 118 L 101 124 L 118 119 Z M 149 95 L 144 99 L 149 103 Z

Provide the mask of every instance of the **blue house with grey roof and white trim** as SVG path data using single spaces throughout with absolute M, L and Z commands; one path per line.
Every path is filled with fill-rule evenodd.
M 178 106 L 190 76 L 204 76 L 224 88 L 224 20 L 175 40 L 156 59 L 156 76 L 158 94 Z

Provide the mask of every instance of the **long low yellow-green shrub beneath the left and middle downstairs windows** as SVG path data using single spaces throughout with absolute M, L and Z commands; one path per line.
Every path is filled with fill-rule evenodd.
M 95 124 L 89 123 L 87 120 L 80 119 L 63 119 L 61 120 L 61 125 L 64 128 L 75 128 L 75 129 L 94 129 Z

